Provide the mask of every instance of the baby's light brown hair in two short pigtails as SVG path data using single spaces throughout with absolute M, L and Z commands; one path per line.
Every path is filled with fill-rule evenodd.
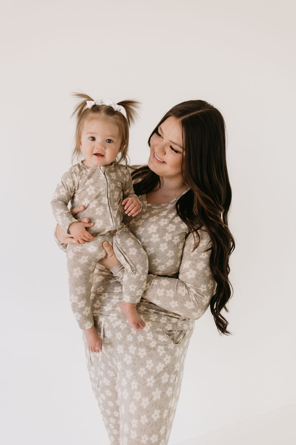
M 81 141 L 81 133 L 83 124 L 88 118 L 95 118 L 97 116 L 107 117 L 114 121 L 116 125 L 118 125 L 119 135 L 122 138 L 121 147 L 122 150 L 118 153 L 117 162 L 123 161 L 127 166 L 127 149 L 129 143 L 129 128 L 132 123 L 134 123 L 136 117 L 138 117 L 138 113 L 136 112 L 136 108 L 139 107 L 140 102 L 134 100 L 127 100 L 118 102 L 117 105 L 120 105 L 124 108 L 126 112 L 126 117 L 120 112 L 115 111 L 110 105 L 93 105 L 91 108 L 85 108 L 86 101 L 93 101 L 90 96 L 87 96 L 85 93 L 72 93 L 73 96 L 83 99 L 79 102 L 75 110 L 73 111 L 72 116 L 76 114 L 76 131 L 75 131 L 75 148 L 72 152 L 72 162 L 75 158 L 79 158 L 81 155 L 80 150 L 80 141 Z

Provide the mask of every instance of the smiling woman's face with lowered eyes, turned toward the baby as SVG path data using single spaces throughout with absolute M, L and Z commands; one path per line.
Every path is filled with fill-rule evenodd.
M 171 179 L 182 179 L 182 129 L 180 122 L 173 116 L 168 117 L 150 139 L 150 170 Z

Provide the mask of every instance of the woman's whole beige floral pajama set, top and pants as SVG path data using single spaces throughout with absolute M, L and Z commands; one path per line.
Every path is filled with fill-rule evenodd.
M 194 237 L 186 237 L 189 229 L 176 212 L 178 198 L 147 204 L 141 195 L 141 212 L 124 217 L 148 256 L 146 288 L 137 305 L 144 329 L 130 328 L 119 308 L 122 264 L 111 271 L 95 267 L 91 313 L 102 338 L 101 351 L 89 351 L 84 331 L 83 341 L 111 445 L 167 445 L 194 320 L 205 313 L 215 292 L 209 234 L 201 228 L 193 251 Z M 66 245 L 56 242 L 66 251 Z

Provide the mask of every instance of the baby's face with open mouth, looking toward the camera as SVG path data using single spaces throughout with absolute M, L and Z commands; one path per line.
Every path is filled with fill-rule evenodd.
M 86 167 L 111 165 L 121 150 L 119 128 L 105 117 L 95 117 L 83 124 L 80 150 Z

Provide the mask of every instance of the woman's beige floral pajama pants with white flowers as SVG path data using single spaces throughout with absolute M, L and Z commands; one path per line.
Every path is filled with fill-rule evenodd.
M 166 330 L 146 321 L 136 332 L 126 319 L 99 316 L 99 353 L 87 368 L 111 445 L 167 445 L 193 330 Z

